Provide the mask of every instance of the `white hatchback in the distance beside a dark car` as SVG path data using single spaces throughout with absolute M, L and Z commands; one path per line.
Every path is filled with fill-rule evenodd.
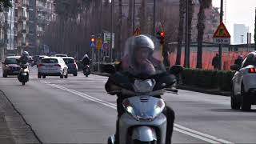
M 46 78 L 46 76 L 60 76 L 67 78 L 68 67 L 64 60 L 60 57 L 46 57 L 38 64 L 38 78 Z

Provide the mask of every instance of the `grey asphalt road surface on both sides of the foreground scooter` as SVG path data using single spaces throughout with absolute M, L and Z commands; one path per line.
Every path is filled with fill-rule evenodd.
M 104 90 L 106 77 L 38 79 L 34 68 L 30 72 L 26 86 L 15 77 L 0 78 L 0 90 L 43 143 L 106 143 L 114 134 L 115 96 Z M 163 98 L 176 113 L 174 143 L 256 142 L 256 110 L 230 110 L 228 97 L 186 90 Z

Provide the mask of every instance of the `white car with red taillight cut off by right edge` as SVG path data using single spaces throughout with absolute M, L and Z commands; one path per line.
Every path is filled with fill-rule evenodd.
M 236 70 L 232 78 L 231 108 L 250 110 L 256 104 L 256 51 L 243 60 L 242 66 L 231 66 Z

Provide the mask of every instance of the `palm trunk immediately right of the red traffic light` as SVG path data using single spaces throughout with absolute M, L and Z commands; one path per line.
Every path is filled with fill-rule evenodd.
M 179 26 L 178 26 L 178 47 L 176 65 L 181 64 L 182 56 L 182 42 L 184 36 L 184 14 L 185 14 L 185 0 L 179 0 Z

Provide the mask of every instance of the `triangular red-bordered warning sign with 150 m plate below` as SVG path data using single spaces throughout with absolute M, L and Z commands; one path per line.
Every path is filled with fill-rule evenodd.
M 230 33 L 226 30 L 226 26 L 222 22 L 214 33 L 214 43 L 230 44 Z

